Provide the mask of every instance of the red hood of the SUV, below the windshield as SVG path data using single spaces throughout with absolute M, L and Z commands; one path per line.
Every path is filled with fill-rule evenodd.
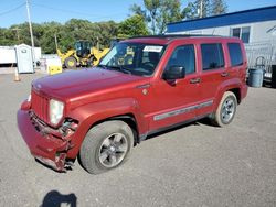
M 116 89 L 141 79 L 145 77 L 95 67 L 46 76 L 33 81 L 32 87 L 50 98 L 74 100 L 87 94 Z

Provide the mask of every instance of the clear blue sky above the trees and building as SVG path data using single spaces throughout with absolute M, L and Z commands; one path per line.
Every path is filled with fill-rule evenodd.
M 28 21 L 26 0 L 0 0 L 0 28 L 9 28 Z M 92 22 L 120 22 L 130 14 L 134 3 L 142 6 L 142 0 L 29 0 L 31 20 L 35 23 L 66 22 L 72 18 Z M 187 6 L 189 0 L 181 0 Z M 276 6 L 276 0 L 226 0 L 227 12 Z

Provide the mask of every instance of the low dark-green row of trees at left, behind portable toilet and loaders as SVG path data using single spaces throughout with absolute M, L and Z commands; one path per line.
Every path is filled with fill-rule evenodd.
M 42 47 L 46 54 L 55 53 L 55 36 L 62 52 L 74 47 L 76 40 L 87 40 L 100 47 L 109 45 L 112 36 L 118 33 L 118 24 L 114 21 L 92 23 L 87 20 L 71 19 L 61 24 L 59 22 L 33 23 L 34 45 Z M 9 29 L 0 29 L 0 45 L 15 45 L 25 43 L 31 45 L 28 22 L 15 24 Z

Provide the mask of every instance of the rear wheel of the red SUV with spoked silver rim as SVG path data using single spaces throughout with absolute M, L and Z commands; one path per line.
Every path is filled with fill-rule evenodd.
M 211 117 L 212 123 L 216 127 L 230 124 L 235 117 L 236 107 L 236 96 L 231 91 L 224 92 L 216 111 Z

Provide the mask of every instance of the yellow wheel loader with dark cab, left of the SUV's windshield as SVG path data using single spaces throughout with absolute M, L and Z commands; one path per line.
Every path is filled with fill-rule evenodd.
M 75 48 L 71 48 L 66 53 L 56 48 L 62 64 L 70 69 L 77 66 L 95 66 L 108 51 L 109 48 L 98 50 L 93 47 L 88 41 L 77 41 Z

